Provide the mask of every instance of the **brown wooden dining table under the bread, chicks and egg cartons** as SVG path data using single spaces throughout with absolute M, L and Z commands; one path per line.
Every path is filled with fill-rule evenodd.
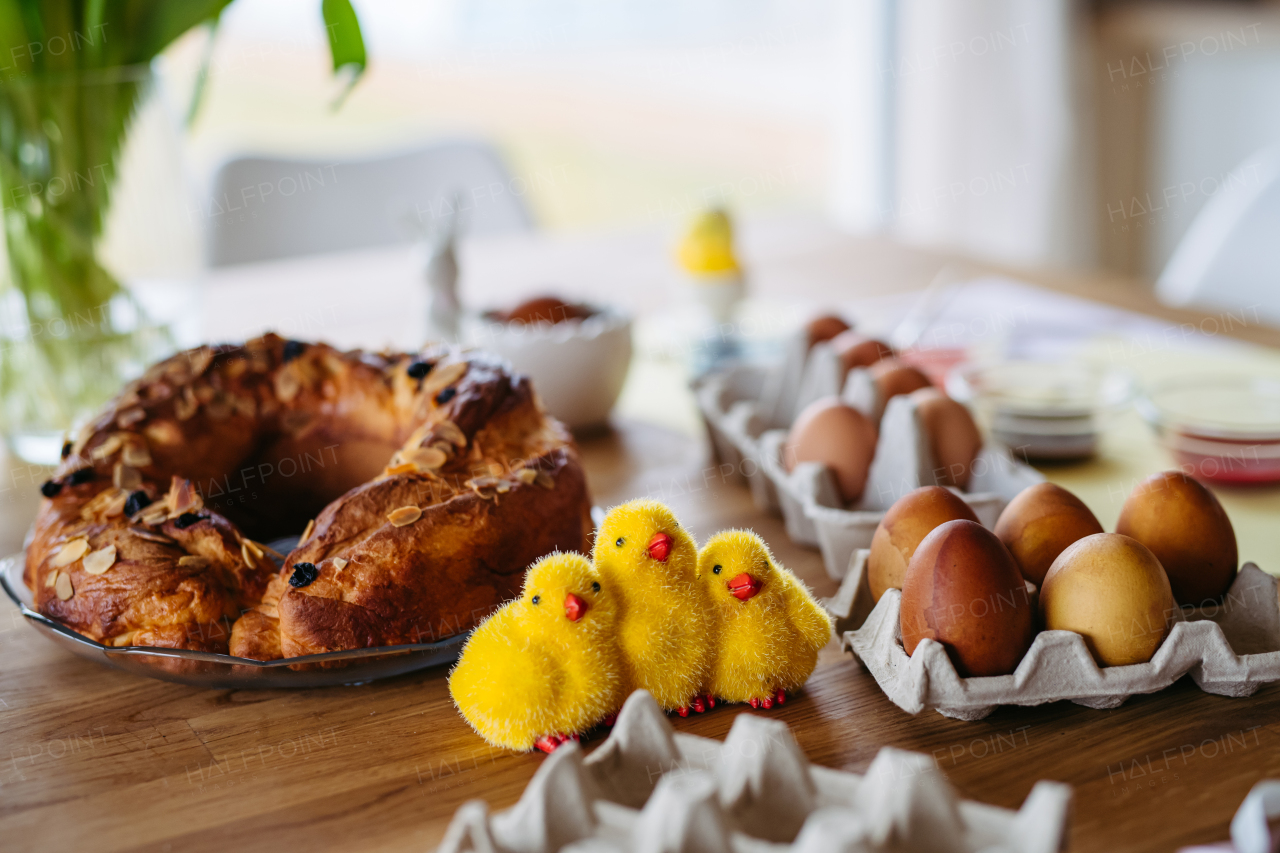
M 809 300 L 919 289 L 951 260 L 819 233 L 812 224 L 748 228 L 744 242 L 762 292 Z M 653 234 L 530 238 L 502 252 L 467 248 L 463 269 L 472 270 L 476 292 L 494 300 L 503 297 L 502 282 L 525 289 L 556 282 L 562 292 L 586 295 L 607 280 L 616 301 L 641 306 L 672 292 L 660 280 L 669 266 L 662 251 L 663 237 Z M 343 343 L 406 337 L 412 332 L 404 318 L 421 309 L 406 284 L 417 268 L 407 252 L 378 257 L 221 273 L 209 289 L 206 334 L 236 337 L 271 323 Z M 353 275 L 361 277 L 358 293 L 333 289 Z M 1032 280 L 1172 324 L 1198 318 L 1156 306 L 1128 282 Z M 1280 341 L 1257 325 L 1235 333 Z M 781 520 L 760 515 L 744 487 L 721 482 L 690 430 L 623 416 L 613 432 L 584 439 L 582 451 L 596 502 L 666 500 L 700 538 L 753 526 L 819 594 L 835 590 L 819 556 L 794 546 Z M 461 803 L 513 803 L 543 761 L 489 749 L 453 710 L 444 676 L 434 670 L 362 686 L 201 690 L 74 658 L 5 606 L 0 847 L 431 849 Z M 740 712 L 721 707 L 673 724 L 723 738 Z M 933 754 L 964 797 L 997 806 L 1016 808 L 1039 779 L 1069 783 L 1075 850 L 1169 850 L 1225 839 L 1249 786 L 1280 776 L 1280 686 L 1226 699 L 1183 679 L 1112 711 L 1059 703 L 961 722 L 904 713 L 833 643 L 805 690 L 768 713 L 791 725 L 815 763 L 861 771 L 881 747 L 913 749 Z

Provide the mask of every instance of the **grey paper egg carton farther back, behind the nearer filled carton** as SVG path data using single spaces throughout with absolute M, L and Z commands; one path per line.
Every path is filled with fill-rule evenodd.
M 869 373 L 854 369 L 845 377 L 840 357 L 826 343 L 814 345 L 797 379 L 795 364 L 803 359 L 797 356 L 803 343 L 803 338 L 792 341 L 776 371 L 735 366 L 708 378 L 698 389 L 698 402 L 726 470 L 746 479 L 760 510 L 782 514 L 794 542 L 819 548 L 827 574 L 840 580 L 852 553 L 870 546 L 895 501 L 937 484 L 938 465 L 915 401 L 899 396 L 883 405 L 876 457 L 858 503 L 845 506 L 824 465 L 801 462 L 788 471 L 783 464 L 787 426 L 804 406 L 831 394 L 873 418 L 882 406 Z M 974 461 L 969 491 L 957 494 L 989 528 L 1014 496 L 1043 479 L 1007 448 L 988 443 Z

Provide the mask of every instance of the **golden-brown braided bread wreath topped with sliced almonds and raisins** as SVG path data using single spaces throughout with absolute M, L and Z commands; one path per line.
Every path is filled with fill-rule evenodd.
M 529 380 L 444 346 L 179 353 L 50 483 L 26 566 L 40 612 L 105 644 L 257 660 L 463 633 L 590 532 L 572 438 Z M 259 539 L 303 526 L 276 571 Z

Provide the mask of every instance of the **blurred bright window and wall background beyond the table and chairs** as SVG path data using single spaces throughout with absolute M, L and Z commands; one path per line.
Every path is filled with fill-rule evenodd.
M 315 3 L 227 9 L 187 146 L 197 196 L 234 155 L 480 137 L 544 229 L 723 201 L 1149 284 L 1280 140 L 1268 3 L 355 5 L 370 68 L 338 110 Z M 165 54 L 174 100 L 205 41 Z

